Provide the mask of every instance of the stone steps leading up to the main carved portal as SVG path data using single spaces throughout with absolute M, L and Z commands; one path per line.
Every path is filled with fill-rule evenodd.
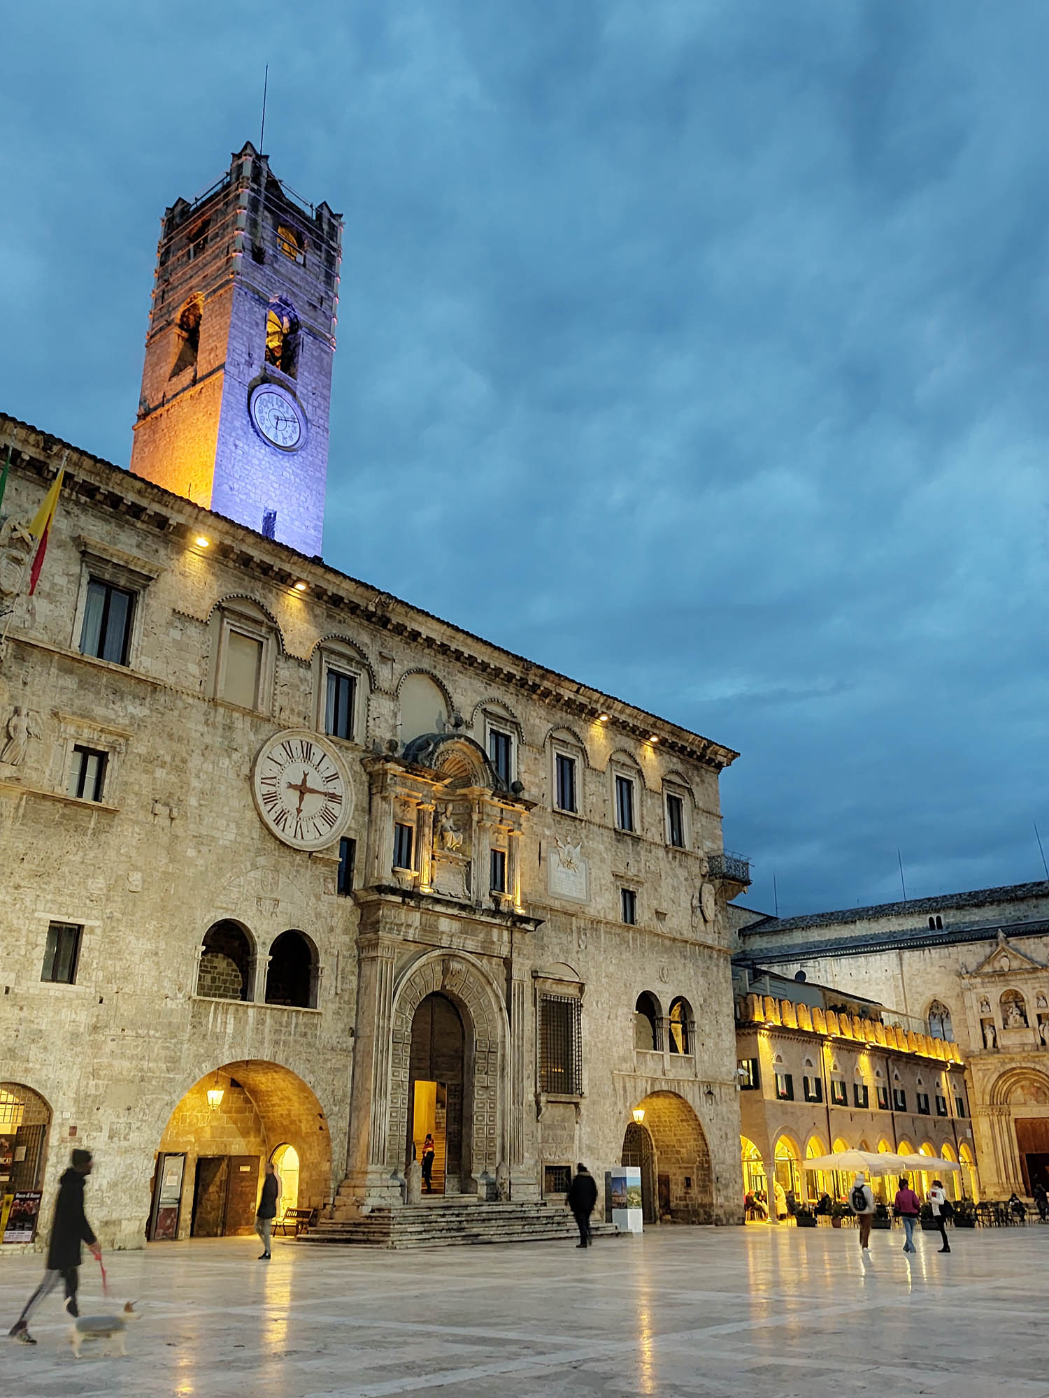
M 621 1237 L 614 1223 L 594 1223 L 597 1239 Z M 299 1243 L 365 1247 L 455 1247 L 463 1243 L 544 1243 L 579 1237 L 568 1209 L 551 1204 L 483 1204 L 470 1195 L 446 1202 L 378 1208 L 355 1219 L 322 1219 Z

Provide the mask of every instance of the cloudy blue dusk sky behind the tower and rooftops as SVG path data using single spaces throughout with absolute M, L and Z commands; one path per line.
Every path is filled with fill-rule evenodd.
M 738 748 L 750 906 L 1042 877 L 1043 3 L 38 0 L 4 50 L 6 411 L 127 463 L 158 218 L 269 62 L 345 215 L 329 561 Z

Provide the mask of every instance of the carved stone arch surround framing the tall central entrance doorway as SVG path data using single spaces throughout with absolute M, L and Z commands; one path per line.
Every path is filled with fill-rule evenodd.
M 463 1019 L 466 1062 L 463 1085 L 462 1177 L 477 1187 L 481 1176 L 494 1180 L 505 1162 L 506 1007 L 498 986 L 464 952 L 429 952 L 404 970 L 393 988 L 389 1118 L 385 1163 L 403 1169 L 410 1107 L 411 1026 L 427 995 L 442 994 Z M 487 1183 L 487 1181 L 485 1181 Z M 464 1191 L 466 1192 L 466 1191 Z

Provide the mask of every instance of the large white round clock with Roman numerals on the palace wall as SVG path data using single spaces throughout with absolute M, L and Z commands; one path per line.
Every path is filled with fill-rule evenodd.
M 252 769 L 252 795 L 263 825 L 294 850 L 331 844 L 351 815 L 338 754 L 308 728 L 267 738 Z

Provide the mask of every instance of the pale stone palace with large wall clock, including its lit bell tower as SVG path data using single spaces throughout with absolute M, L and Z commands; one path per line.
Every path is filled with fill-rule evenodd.
M 323 563 L 340 229 L 245 147 L 165 214 L 133 474 L 0 417 L 0 1195 L 84 1145 L 105 1246 L 249 1230 L 270 1159 L 354 1219 L 429 1135 L 446 1195 L 636 1156 L 738 1222 L 736 754 Z

